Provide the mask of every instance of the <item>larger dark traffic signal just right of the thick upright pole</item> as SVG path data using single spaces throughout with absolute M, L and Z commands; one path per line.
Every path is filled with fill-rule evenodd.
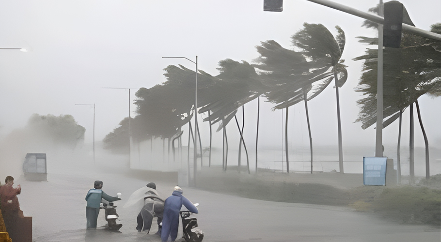
M 403 9 L 403 3 L 399 1 L 384 3 L 383 46 L 400 47 Z

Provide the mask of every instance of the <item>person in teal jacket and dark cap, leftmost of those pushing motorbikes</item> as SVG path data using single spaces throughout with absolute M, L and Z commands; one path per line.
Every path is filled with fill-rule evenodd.
M 95 181 L 94 189 L 90 189 L 86 195 L 87 229 L 96 228 L 96 220 L 98 219 L 99 205 L 101 203 L 101 199 L 104 199 L 109 202 L 121 200 L 121 198 L 119 197 L 110 197 L 105 192 L 103 192 L 101 188 L 103 188 L 103 182 Z

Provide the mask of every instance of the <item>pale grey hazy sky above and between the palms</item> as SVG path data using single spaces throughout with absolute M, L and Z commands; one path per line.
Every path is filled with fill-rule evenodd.
M 367 11 L 378 0 L 336 0 Z M 410 18 L 424 30 L 441 22 L 440 0 L 402 0 Z M 304 22 L 321 23 L 335 34 L 339 25 L 346 33 L 342 59 L 348 65 L 347 83 L 340 89 L 343 142 L 375 146 L 373 127 L 362 130 L 353 123 L 359 107 L 358 84 L 366 45 L 356 36 L 376 36 L 361 27 L 363 19 L 306 0 L 285 0 L 282 13 L 263 11 L 263 0 L 0 0 L 0 47 L 31 48 L 31 52 L 0 50 L 0 137 L 26 125 L 32 113 L 71 114 L 86 128 L 86 142 L 102 140 L 128 114 L 128 91 L 102 87 L 133 88 L 135 92 L 165 81 L 167 65 L 199 69 L 215 76 L 218 62 L 227 58 L 249 61 L 258 57 L 260 41 L 275 40 L 291 48 L 290 36 Z M 264 101 L 264 99 L 261 99 Z M 332 86 L 308 102 L 315 144 L 337 144 L 335 90 Z M 262 142 L 271 144 L 282 136 L 282 111 L 261 105 Z M 423 122 L 431 146 L 441 147 L 441 98 L 420 98 Z M 246 119 L 255 122 L 256 103 L 246 106 Z M 131 105 L 132 117 L 136 106 Z M 416 112 L 415 112 L 416 114 Z M 293 142 L 308 143 L 304 104 L 289 111 Z M 292 116 L 292 118 L 291 118 Z M 403 121 L 403 139 L 409 114 Z M 424 146 L 415 120 L 415 146 Z M 200 124 L 201 127 L 204 124 Z M 231 131 L 236 131 L 234 123 Z M 299 128 L 295 128 L 295 125 Z M 251 132 L 249 128 L 248 132 Z M 300 130 L 300 131 L 299 131 Z M 268 135 L 268 136 L 267 136 Z M 394 143 L 397 125 L 385 130 L 384 142 Z M 281 141 L 280 141 L 281 142 Z M 405 143 L 405 141 L 403 141 Z

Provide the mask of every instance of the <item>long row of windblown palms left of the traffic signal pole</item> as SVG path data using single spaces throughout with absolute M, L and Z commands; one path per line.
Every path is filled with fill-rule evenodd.
M 220 72 L 217 76 L 198 70 L 197 106 L 200 108 L 197 111 L 208 114 L 203 121 L 208 121 L 210 126 L 210 152 L 211 126 L 218 123 L 217 132 L 223 130 L 224 169 L 226 169 L 228 161 L 228 139 L 225 129 L 226 125 L 235 118 L 240 134 L 238 164 L 241 165 L 240 157 L 243 145 L 247 153 L 248 172 L 250 172 L 248 150 L 243 139 L 245 117 L 242 117 L 242 125 L 240 125 L 236 113 L 238 108 L 242 107 L 244 115 L 246 103 L 257 99 L 259 106 L 260 96 L 265 96 L 269 102 L 275 104 L 272 110 L 285 109 L 288 111 L 290 106 L 304 101 L 310 136 L 312 173 L 313 145 L 307 101 L 320 94 L 334 79 L 338 104 L 338 88 L 342 87 L 347 79 L 346 66 L 343 65 L 344 61 L 340 60 L 345 46 L 345 34 L 338 26 L 336 27 L 338 32 L 336 37 L 321 24 L 305 23 L 303 27 L 291 37 L 293 45 L 299 51 L 284 48 L 277 42 L 269 40 L 256 46 L 260 57 L 254 60 L 253 64 L 247 61 L 222 60 L 217 68 Z M 145 140 L 161 137 L 164 140 L 168 139 L 170 143 L 170 140 L 173 140 L 177 134 L 182 133 L 183 125 L 189 123 L 189 129 L 192 128 L 190 120 L 195 111 L 193 99 L 195 72 L 182 65 L 179 67 L 170 65 L 164 71 L 166 72 L 164 74 L 166 82 L 150 89 L 141 88 L 135 94 L 137 96 L 135 104 L 139 115 L 132 122 L 134 139 Z M 339 106 L 337 107 L 337 117 L 340 172 L 343 172 Z M 257 121 L 258 119 L 259 116 Z M 287 120 L 285 122 L 287 127 Z M 258 127 L 256 133 L 258 134 Z M 288 142 L 287 134 L 288 129 L 286 128 L 285 143 Z M 257 142 L 256 138 L 256 147 Z M 200 149 L 202 150 L 202 144 L 200 144 Z M 210 164 L 211 157 L 209 157 Z M 289 172 L 287 146 L 286 167 Z

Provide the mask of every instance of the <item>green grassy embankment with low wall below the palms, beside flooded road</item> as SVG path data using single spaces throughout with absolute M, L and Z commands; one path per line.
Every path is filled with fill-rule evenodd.
M 205 170 L 198 173 L 197 187 L 260 200 L 348 206 L 398 223 L 441 226 L 441 174 L 421 179 L 415 185 L 400 186 L 363 186 L 359 185 L 360 176 L 354 179 L 339 173 L 312 174 L 316 182 L 305 181 L 308 175 L 311 176 L 276 173 L 268 179 L 268 174 L 254 176 L 219 170 L 207 174 Z

